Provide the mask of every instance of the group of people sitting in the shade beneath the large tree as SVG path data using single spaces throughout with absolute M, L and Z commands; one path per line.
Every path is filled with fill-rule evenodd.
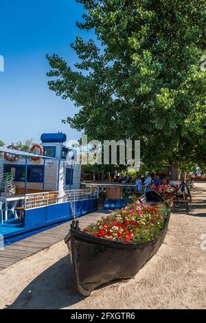
M 141 176 L 137 176 L 136 179 L 136 189 L 137 192 L 141 193 L 141 192 L 146 192 L 146 190 L 148 189 L 148 187 L 154 183 L 154 186 L 158 187 L 161 184 L 165 184 L 167 183 L 168 180 L 166 177 L 163 177 L 161 179 L 161 177 L 159 177 L 159 175 L 156 175 L 153 179 L 152 176 L 147 173 L 146 177 L 144 178 L 144 181 L 142 181 Z

